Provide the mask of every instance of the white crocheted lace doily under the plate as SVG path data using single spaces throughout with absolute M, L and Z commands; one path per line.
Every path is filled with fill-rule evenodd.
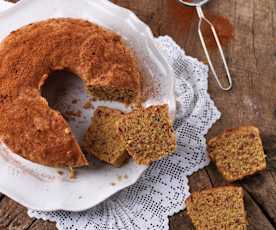
M 220 112 L 207 93 L 208 67 L 186 56 L 170 37 L 159 37 L 156 44 L 176 74 L 176 153 L 155 162 L 136 184 L 90 210 L 29 210 L 29 216 L 55 221 L 64 230 L 160 230 L 169 228 L 168 216 L 184 208 L 187 176 L 209 163 L 204 135 Z

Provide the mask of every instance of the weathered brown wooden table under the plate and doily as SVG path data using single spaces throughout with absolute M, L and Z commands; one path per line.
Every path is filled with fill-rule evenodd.
M 114 0 L 134 11 L 156 36 L 169 35 L 186 53 L 205 61 L 197 35 L 197 19 L 184 22 L 183 9 L 174 0 Z M 177 7 L 177 9 L 175 9 Z M 233 75 L 231 92 L 218 89 L 210 75 L 209 92 L 222 112 L 222 118 L 208 137 L 227 127 L 257 125 L 262 131 L 269 156 L 276 155 L 276 1 L 213 0 L 205 8 L 208 14 L 224 15 L 234 25 L 235 36 L 225 54 Z M 183 20 L 182 20 L 183 19 Z M 216 54 L 214 62 L 218 65 Z M 224 76 L 222 68 L 220 75 Z M 213 165 L 193 174 L 191 191 L 226 182 Z M 276 228 L 276 171 L 266 170 L 237 184 L 245 190 L 249 229 Z M 26 209 L 7 197 L 1 197 L 0 229 L 56 229 L 54 223 L 30 219 Z M 192 229 L 185 211 L 170 217 L 171 230 Z

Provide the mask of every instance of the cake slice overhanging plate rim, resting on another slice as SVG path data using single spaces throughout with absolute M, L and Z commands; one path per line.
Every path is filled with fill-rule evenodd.
M 128 154 L 138 164 L 150 164 L 175 151 L 176 137 L 168 106 L 140 108 L 118 121 Z

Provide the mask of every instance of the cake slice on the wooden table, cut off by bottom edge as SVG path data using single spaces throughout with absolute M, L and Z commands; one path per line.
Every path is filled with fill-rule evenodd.
M 243 190 L 240 187 L 225 186 L 194 192 L 186 205 L 197 230 L 246 229 Z

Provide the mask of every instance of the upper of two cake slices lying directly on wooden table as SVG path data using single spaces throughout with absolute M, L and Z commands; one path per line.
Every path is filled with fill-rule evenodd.
M 266 168 L 260 132 L 253 126 L 224 131 L 208 142 L 208 152 L 228 181 L 242 179 Z

